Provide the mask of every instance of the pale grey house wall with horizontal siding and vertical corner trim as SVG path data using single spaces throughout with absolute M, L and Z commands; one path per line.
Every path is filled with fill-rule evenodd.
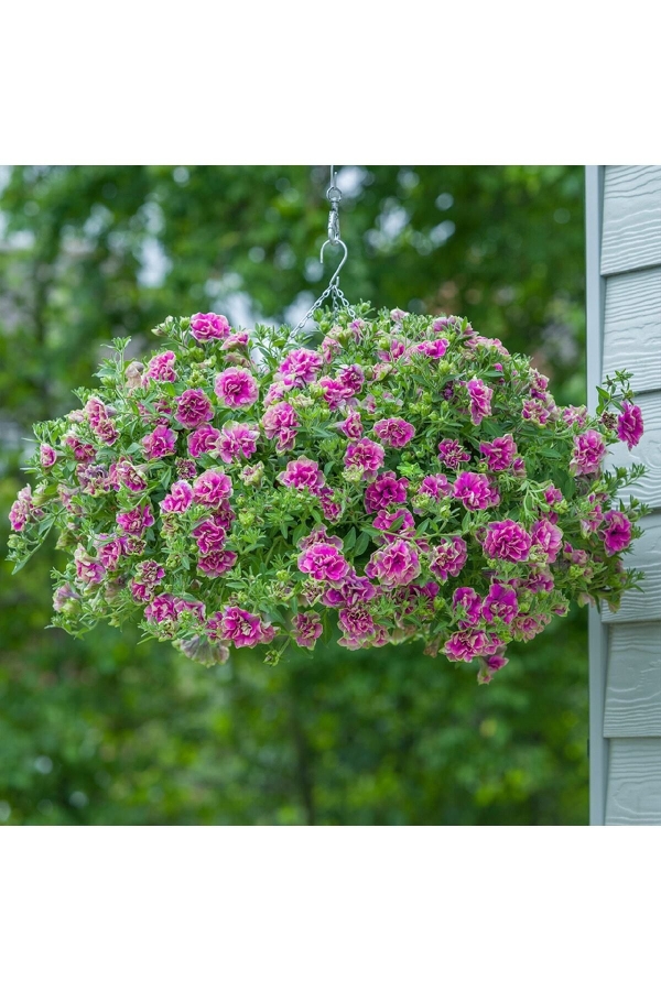
M 588 391 L 633 373 L 644 436 L 609 460 L 648 466 L 630 491 L 652 508 L 628 564 L 641 591 L 590 616 L 590 823 L 661 825 L 661 166 L 586 171 Z

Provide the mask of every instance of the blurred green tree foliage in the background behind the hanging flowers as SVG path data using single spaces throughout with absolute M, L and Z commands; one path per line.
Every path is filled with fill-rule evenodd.
M 167 314 L 296 319 L 322 291 L 326 167 L 12 167 L 0 192 L 0 534 L 30 426 L 76 405 L 101 345 Z M 342 286 L 466 315 L 584 395 L 583 170 L 346 166 Z M 294 305 L 295 304 L 295 305 Z M 586 614 L 489 686 L 419 645 L 238 652 L 207 671 L 131 631 L 44 630 L 52 545 L 0 565 L 0 821 L 587 821 Z

